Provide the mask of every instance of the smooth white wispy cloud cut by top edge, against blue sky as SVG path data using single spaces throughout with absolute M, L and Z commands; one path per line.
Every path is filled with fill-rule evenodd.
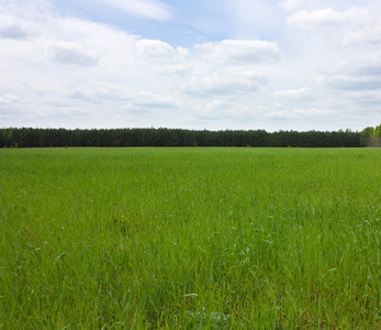
M 172 14 L 170 8 L 157 0 L 102 0 L 124 12 L 138 18 L 167 21 Z

